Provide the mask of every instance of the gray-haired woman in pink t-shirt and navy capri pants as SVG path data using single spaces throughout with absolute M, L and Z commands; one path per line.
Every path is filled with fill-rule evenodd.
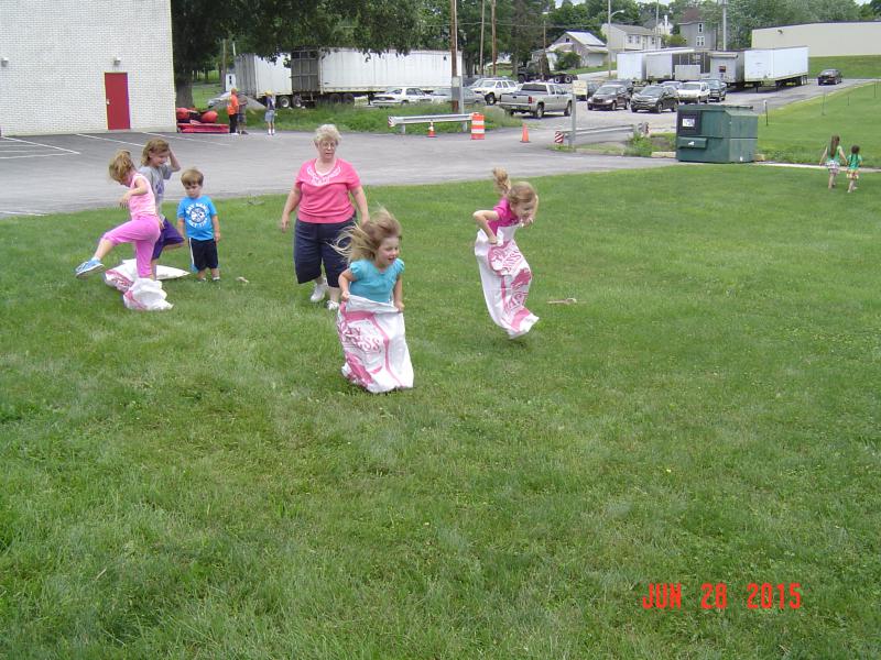
M 282 210 L 281 229 L 294 228 L 294 271 L 298 284 L 314 282 L 309 300 L 318 302 L 325 294 L 328 309 L 339 308 L 339 275 L 348 267 L 334 246 L 340 234 L 355 223 L 355 206 L 361 221 L 367 218 L 367 197 L 355 168 L 337 158 L 339 131 L 324 124 L 315 131 L 318 157 L 306 161 L 296 175 Z M 355 205 L 352 205 L 355 201 Z M 326 277 L 322 276 L 322 265 Z

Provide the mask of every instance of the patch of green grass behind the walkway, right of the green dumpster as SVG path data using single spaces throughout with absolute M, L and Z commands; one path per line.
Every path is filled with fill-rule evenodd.
M 819 162 L 829 136 L 841 136 L 845 152 L 860 145 L 867 167 L 881 166 L 881 135 L 878 116 L 881 89 L 875 82 L 836 90 L 823 97 L 793 103 L 759 118 L 759 151 L 771 161 L 788 163 Z

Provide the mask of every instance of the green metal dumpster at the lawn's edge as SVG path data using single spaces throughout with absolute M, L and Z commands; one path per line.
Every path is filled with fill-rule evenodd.
M 748 106 L 679 106 L 676 158 L 688 163 L 752 163 L 759 116 Z

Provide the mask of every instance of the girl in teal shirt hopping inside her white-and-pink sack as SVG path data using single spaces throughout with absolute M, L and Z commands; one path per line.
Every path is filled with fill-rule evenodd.
M 401 274 L 401 224 L 384 209 L 354 224 L 337 241 L 349 267 L 339 276 L 337 333 L 342 375 L 368 392 L 413 387 Z

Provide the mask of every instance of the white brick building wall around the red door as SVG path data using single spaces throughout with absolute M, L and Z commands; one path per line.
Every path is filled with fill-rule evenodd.
M 170 0 L 0 0 L 3 135 L 106 131 L 105 73 L 132 130 L 175 130 Z

